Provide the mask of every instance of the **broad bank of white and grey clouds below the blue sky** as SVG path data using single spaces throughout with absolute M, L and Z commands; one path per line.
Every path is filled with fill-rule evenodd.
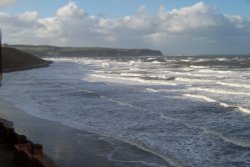
M 56 15 L 0 13 L 9 43 L 154 48 L 172 54 L 249 53 L 250 19 L 217 14 L 203 2 L 147 15 L 145 6 L 121 18 L 90 16 L 74 2 Z M 34 41 L 36 43 L 34 43 Z

